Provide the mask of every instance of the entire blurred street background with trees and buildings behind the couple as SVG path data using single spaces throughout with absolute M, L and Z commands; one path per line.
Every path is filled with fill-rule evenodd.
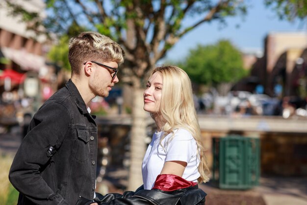
M 14 153 L 40 105 L 70 78 L 68 40 L 119 42 L 120 83 L 90 108 L 99 126 L 97 191 L 135 190 L 155 131 L 143 107 L 153 66 L 193 84 L 208 205 L 307 205 L 305 0 L 0 1 L 0 205 L 16 204 Z

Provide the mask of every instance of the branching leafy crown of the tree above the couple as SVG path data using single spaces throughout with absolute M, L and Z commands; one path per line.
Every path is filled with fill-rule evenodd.
M 43 26 L 46 34 L 58 36 L 59 43 L 49 57 L 65 69 L 70 69 L 65 45 L 68 38 L 83 30 L 95 30 L 123 46 L 128 57 L 125 67 L 132 70 L 125 73 L 140 79 L 190 30 L 211 21 L 224 25 L 228 16 L 246 13 L 242 0 L 44 0 L 46 18 L 42 19 L 39 12 L 27 12 L 11 0 L 5 2 L 12 15 L 20 15 L 32 25 L 30 29 Z M 191 17 L 192 21 L 185 21 Z M 131 80 L 128 83 L 134 84 Z

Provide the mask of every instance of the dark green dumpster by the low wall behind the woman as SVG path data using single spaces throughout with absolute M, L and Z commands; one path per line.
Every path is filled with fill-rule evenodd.
M 259 184 L 258 138 L 213 138 L 212 182 L 221 189 L 249 189 Z

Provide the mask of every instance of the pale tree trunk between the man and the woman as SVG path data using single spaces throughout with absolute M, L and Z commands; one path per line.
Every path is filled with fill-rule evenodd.
M 128 179 L 128 190 L 130 191 L 134 191 L 143 184 L 142 161 L 146 150 L 145 137 L 147 127 L 147 115 L 146 112 L 143 110 L 144 89 L 141 88 L 140 84 L 135 84 L 133 85 L 130 169 Z

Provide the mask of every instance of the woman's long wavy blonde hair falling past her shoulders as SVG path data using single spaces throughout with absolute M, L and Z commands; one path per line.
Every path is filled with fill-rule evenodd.
M 176 66 L 156 67 L 150 72 L 150 76 L 156 72 L 160 73 L 163 79 L 160 112 L 153 114 L 162 117 L 163 122 L 165 122 L 161 128 L 161 131 L 164 131 L 164 136 L 160 142 L 170 133 L 173 133 L 174 136 L 175 129 L 184 128 L 188 130 L 197 143 L 200 156 L 198 171 L 201 176 L 198 178 L 198 181 L 206 182 L 209 180 L 209 169 L 205 159 L 205 148 L 202 144 L 200 126 L 194 107 L 190 78 L 181 68 Z

